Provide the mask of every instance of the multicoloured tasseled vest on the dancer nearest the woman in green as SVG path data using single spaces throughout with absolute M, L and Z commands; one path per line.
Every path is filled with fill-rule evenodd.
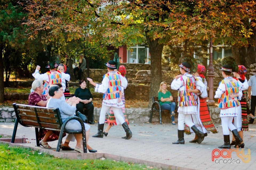
M 183 88 L 180 88 L 182 90 L 178 91 L 178 106 L 197 106 L 197 94 L 187 93 L 187 89 L 195 89 L 197 78 L 187 76 L 187 79 L 183 80 L 181 76 L 181 79 L 183 81 Z

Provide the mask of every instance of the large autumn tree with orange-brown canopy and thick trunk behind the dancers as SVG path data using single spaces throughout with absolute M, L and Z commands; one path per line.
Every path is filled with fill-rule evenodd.
M 103 10 L 98 11 L 102 6 Z M 31 3 L 26 10 L 30 13 L 26 24 L 33 25 L 31 38 L 38 30 L 51 30 L 52 36 L 69 33 L 67 41 L 86 35 L 88 39 L 103 39 L 115 47 L 129 47 L 142 44 L 146 37 L 151 53 L 150 96 L 157 94 L 162 81 L 164 45 L 185 42 L 184 54 L 186 42 L 200 45 L 211 37 L 214 44 L 245 45 L 249 43 L 246 36 L 253 30 L 241 25 L 243 18 L 255 18 L 254 1 L 49 0 Z M 250 26 L 254 24 L 251 22 Z M 241 31 L 246 36 L 241 37 Z

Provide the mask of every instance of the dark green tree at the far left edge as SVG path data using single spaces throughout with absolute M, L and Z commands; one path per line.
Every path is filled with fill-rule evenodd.
M 24 37 L 21 22 L 26 16 L 22 8 L 8 2 L 0 2 L 0 102 L 4 102 L 4 68 L 10 71 L 3 63 L 15 58 L 15 51 L 24 45 L 27 37 Z M 8 59 L 9 58 L 9 59 Z M 14 64 L 14 63 L 12 63 Z M 7 70 L 6 70 L 7 69 Z

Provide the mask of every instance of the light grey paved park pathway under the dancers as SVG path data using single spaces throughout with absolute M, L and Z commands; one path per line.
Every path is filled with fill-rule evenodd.
M 231 152 L 230 157 L 225 158 L 223 155 L 226 155 L 226 153 L 223 152 L 222 156 L 215 158 L 214 161 L 212 161 L 212 151 L 218 149 L 218 146 L 223 144 L 221 124 L 215 124 L 219 133 L 208 134 L 201 144 L 189 143 L 189 140 L 193 139 L 194 135 L 185 135 L 184 145 L 171 144 L 171 142 L 177 140 L 177 125 L 131 123 L 129 126 L 133 132 L 133 137 L 130 140 L 125 140 L 121 139 L 125 135 L 122 126 L 111 128 L 107 137 L 94 138 L 91 136 L 97 132 L 97 125 L 92 125 L 89 144 L 98 150 L 95 154 L 80 154 L 75 151 L 64 152 L 62 150 L 61 153 L 51 152 L 56 149 L 57 141 L 49 142 L 49 145 L 53 147 L 52 149 L 36 147 L 34 128 L 23 127 L 21 125 L 18 126 L 16 136 L 25 137 L 27 143 L 17 145 L 35 149 L 40 148 L 40 150 L 49 152 L 55 156 L 58 154 L 59 156 L 63 156 L 61 154 L 65 154 L 70 159 L 94 159 L 99 158 L 104 153 L 105 157 L 110 159 L 144 163 L 156 168 L 162 167 L 163 169 L 246 170 L 255 166 L 256 124 L 249 124 L 250 131 L 244 132 L 245 148 L 243 150 L 239 148 L 239 151 L 243 151 L 244 155 L 239 157 L 241 153 L 234 150 Z M 13 127 L 14 123 L 0 123 L 0 134 L 12 135 Z M 70 146 L 74 147 L 75 143 L 71 142 Z M 218 151 L 216 150 L 214 154 L 217 155 Z M 248 155 L 248 152 L 250 155 Z M 237 153 L 239 153 L 238 156 Z M 250 160 L 248 160 L 248 156 L 250 156 Z M 244 163 L 242 159 L 248 162 Z

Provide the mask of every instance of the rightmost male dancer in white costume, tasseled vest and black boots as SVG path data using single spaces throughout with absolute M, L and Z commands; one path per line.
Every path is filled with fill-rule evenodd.
M 237 66 L 235 64 L 234 58 L 232 57 L 223 58 L 222 64 L 223 66 L 221 70 L 230 73 L 233 72 L 235 70 L 235 67 Z M 222 74 L 226 75 L 225 72 L 223 72 Z M 238 94 L 238 97 L 230 98 L 231 94 Z M 238 80 L 230 76 L 224 78 L 221 81 L 217 91 L 215 92 L 214 98 L 219 98 L 218 103 L 219 108 L 221 109 L 220 117 L 224 137 L 224 144 L 222 146 L 219 146 L 219 148 L 230 149 L 229 129 L 230 131 L 232 131 L 237 144 L 240 144 L 243 141 L 242 138 L 239 136 L 236 127 L 232 124 L 234 116 L 237 117 L 237 115 L 241 112 L 238 111 L 240 106 L 240 102 L 238 100 L 241 100 L 241 97 L 242 91 L 241 86 L 239 86 Z

